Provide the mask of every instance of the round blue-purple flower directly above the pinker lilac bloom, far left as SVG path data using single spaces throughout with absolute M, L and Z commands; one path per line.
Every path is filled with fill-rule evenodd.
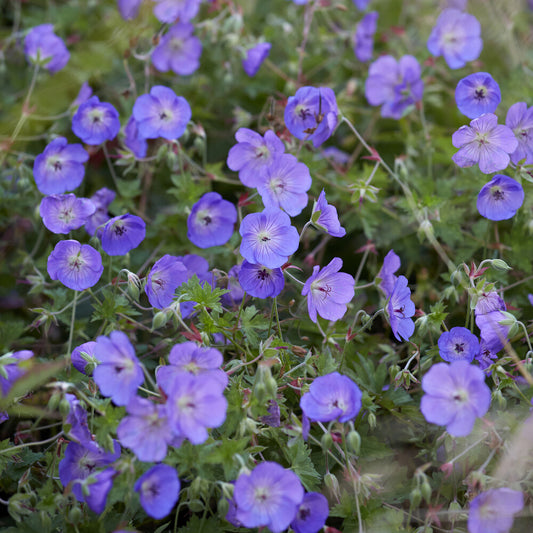
M 72 191 L 83 181 L 89 154 L 81 144 L 67 144 L 65 137 L 57 137 L 35 158 L 33 177 L 43 194 Z

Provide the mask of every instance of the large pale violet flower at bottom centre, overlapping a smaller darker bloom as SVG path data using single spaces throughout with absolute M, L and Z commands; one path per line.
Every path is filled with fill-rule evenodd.
M 304 497 L 298 476 L 273 462 L 257 465 L 235 482 L 236 518 L 247 528 L 268 527 L 280 533 L 289 527 Z

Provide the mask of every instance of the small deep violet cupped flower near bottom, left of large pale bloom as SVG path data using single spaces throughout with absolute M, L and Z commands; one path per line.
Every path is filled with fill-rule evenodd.
M 146 514 L 159 520 L 167 516 L 178 501 L 178 472 L 169 465 L 155 465 L 135 482 L 133 490 L 139 493 Z

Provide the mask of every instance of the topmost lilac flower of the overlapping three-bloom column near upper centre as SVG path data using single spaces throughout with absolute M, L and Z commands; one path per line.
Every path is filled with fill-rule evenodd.
M 237 143 L 228 154 L 228 167 L 239 172 L 239 179 L 247 187 L 257 187 L 272 164 L 274 154 L 283 154 L 285 145 L 272 131 L 264 137 L 248 128 L 235 133 Z

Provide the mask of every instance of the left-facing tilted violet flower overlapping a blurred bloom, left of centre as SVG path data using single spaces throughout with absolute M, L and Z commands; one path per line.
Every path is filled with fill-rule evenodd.
M 148 301 L 156 309 L 165 309 L 174 300 L 176 289 L 189 279 L 187 267 L 175 256 L 164 255 L 146 278 L 144 288 Z

